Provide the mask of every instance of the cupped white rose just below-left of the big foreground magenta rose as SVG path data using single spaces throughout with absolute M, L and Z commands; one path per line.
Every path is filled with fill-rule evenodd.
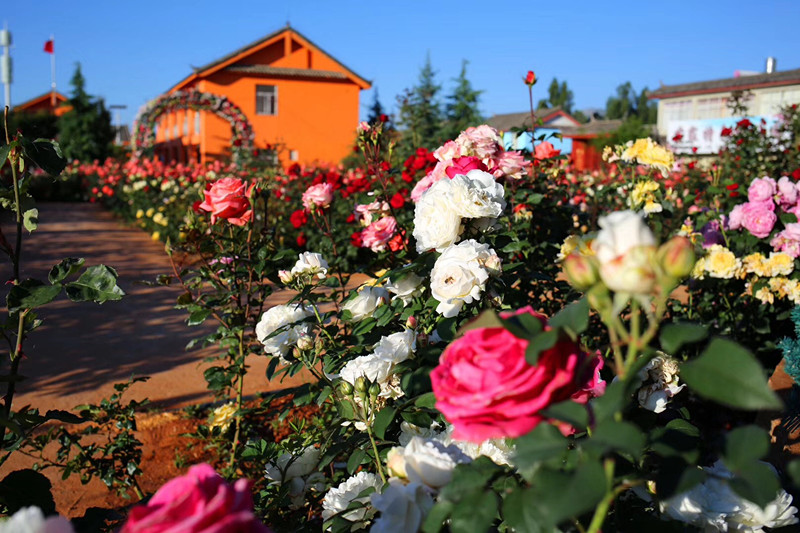
M 453 469 L 471 459 L 456 446 L 445 446 L 432 439 L 413 437 L 405 450 L 406 474 L 412 483 L 422 483 L 438 490 L 453 478 Z

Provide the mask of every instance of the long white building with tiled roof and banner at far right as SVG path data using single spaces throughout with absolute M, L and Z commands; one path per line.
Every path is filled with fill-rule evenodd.
M 777 121 L 782 106 L 800 103 L 800 69 L 737 73 L 724 78 L 678 85 L 663 85 L 648 96 L 658 99 L 658 133 L 676 152 L 717 153 L 723 144 L 722 129 L 731 117 L 728 102 L 733 91 L 749 91 L 747 115 L 764 119 L 767 128 Z

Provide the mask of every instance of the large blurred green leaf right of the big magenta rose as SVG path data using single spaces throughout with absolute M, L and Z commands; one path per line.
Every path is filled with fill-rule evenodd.
M 764 369 L 753 355 L 727 339 L 714 339 L 700 357 L 681 366 L 681 377 L 700 396 L 746 410 L 780 409 Z

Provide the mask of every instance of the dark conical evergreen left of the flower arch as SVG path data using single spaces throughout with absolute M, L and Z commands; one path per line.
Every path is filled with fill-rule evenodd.
M 80 63 L 70 80 L 72 110 L 59 120 L 59 143 L 68 160 L 91 161 L 105 159 L 111 151 L 114 129 L 111 114 L 102 99 L 94 99 L 86 92 L 86 80 Z

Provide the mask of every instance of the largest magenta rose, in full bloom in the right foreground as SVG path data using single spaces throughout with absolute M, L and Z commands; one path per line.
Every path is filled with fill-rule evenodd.
M 546 318 L 530 307 L 546 326 Z M 431 372 L 436 408 L 453 424 L 453 438 L 471 442 L 520 437 L 544 420 L 541 411 L 573 396 L 601 394 L 597 356 L 570 340 L 525 360 L 528 341 L 504 328 L 477 328 L 453 341 Z

